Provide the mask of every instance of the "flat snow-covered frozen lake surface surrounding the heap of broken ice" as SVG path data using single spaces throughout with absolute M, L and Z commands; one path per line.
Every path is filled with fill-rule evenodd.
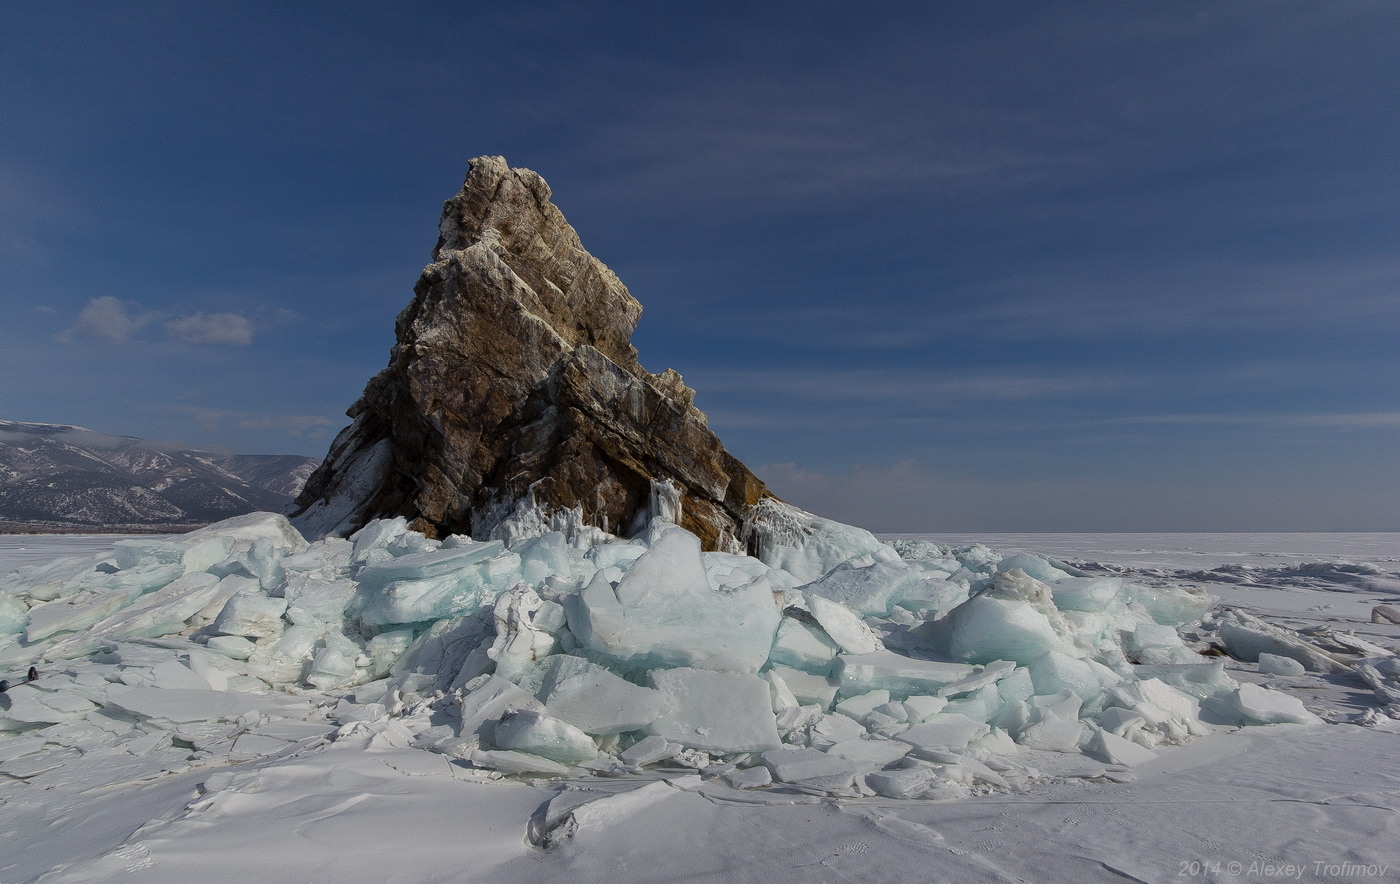
M 1210 591 L 1294 629 L 1351 630 L 1400 604 L 1400 534 L 920 537 L 1030 551 L 1089 573 Z M 0 537 L 0 573 L 113 537 Z M 1368 565 L 1371 567 L 1358 567 Z M 764 794 L 696 775 L 561 786 L 465 780 L 392 733 L 314 740 L 245 764 L 161 773 L 133 758 L 43 787 L 0 776 L 0 881 L 1362 881 L 1400 877 L 1400 721 L 1347 674 L 1240 682 L 1329 723 L 1169 747 L 1128 782 L 1057 778 L 955 801 Z M 1348 723 L 1351 721 L 1351 723 Z M 297 748 L 300 747 L 300 748 Z M 0 758 L 6 741 L 0 738 Z M 560 789 L 622 793 L 571 839 L 526 831 Z

